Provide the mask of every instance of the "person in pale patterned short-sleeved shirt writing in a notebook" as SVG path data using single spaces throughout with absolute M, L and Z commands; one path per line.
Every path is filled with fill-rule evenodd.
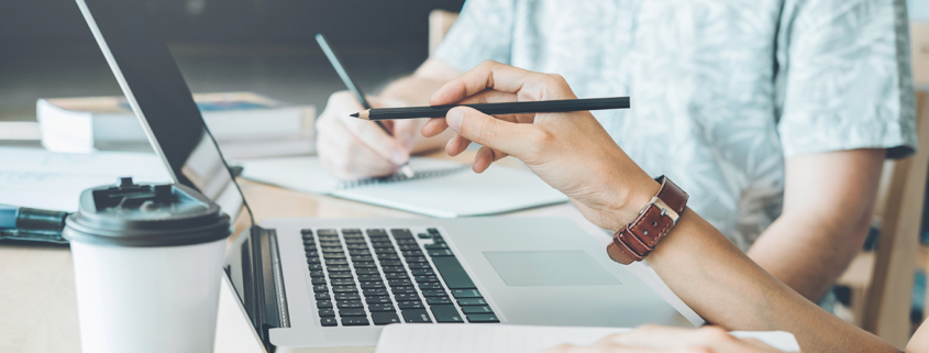
M 915 146 L 905 13 L 892 0 L 469 0 L 436 52 L 369 101 L 425 104 L 485 59 L 560 74 L 584 98 L 631 96 L 635 109 L 594 113 L 604 143 L 670 176 L 816 301 L 864 242 L 884 158 Z M 391 137 L 349 117 L 360 110 L 338 92 L 318 122 L 320 159 L 342 178 L 462 143 L 414 120 Z

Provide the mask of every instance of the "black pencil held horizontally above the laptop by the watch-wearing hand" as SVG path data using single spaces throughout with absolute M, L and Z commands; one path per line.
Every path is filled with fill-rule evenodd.
M 508 103 L 449 104 L 432 107 L 375 108 L 352 114 L 354 118 L 379 121 L 391 119 L 444 118 L 455 107 L 471 107 L 488 115 L 554 113 L 566 111 L 629 108 L 629 97 L 542 100 Z

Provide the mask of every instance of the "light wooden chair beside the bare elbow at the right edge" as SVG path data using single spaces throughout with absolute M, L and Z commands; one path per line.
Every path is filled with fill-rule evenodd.
M 911 332 L 913 280 L 929 169 L 929 93 L 917 91 L 916 102 L 919 150 L 884 166 L 875 209 L 877 249 L 859 254 L 838 280 L 851 288 L 847 319 L 900 349 Z

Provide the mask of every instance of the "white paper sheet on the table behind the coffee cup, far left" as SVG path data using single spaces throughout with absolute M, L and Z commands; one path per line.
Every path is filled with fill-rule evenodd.
M 85 189 L 115 184 L 131 176 L 137 183 L 170 183 L 153 153 L 55 153 L 38 148 L 0 148 L 0 203 L 76 211 Z

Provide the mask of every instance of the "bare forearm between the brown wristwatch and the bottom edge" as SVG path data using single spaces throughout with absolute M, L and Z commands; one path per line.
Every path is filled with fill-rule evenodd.
M 804 352 L 898 352 L 790 290 L 692 210 L 649 263 L 684 302 L 728 330 L 787 331 Z

